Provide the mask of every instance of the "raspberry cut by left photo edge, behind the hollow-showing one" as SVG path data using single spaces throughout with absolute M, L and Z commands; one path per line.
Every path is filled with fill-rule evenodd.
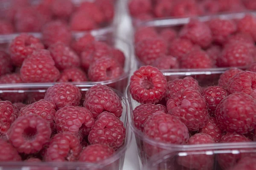
M 17 119 L 19 110 L 9 101 L 0 101 L 0 133 L 5 134 Z

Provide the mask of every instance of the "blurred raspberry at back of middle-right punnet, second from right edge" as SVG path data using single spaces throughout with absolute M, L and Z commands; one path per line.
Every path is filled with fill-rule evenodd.
M 237 30 L 236 23 L 233 20 L 213 19 L 209 22 L 212 31 L 212 38 L 215 42 L 223 44 L 227 37 Z

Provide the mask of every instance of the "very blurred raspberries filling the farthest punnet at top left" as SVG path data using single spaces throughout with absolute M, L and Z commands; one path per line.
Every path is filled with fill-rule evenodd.
M 75 6 L 72 0 L 29 2 L 8 2 L 9 8 L 0 11 L 0 34 L 40 32 L 54 20 L 61 20 L 73 31 L 89 31 L 109 25 L 114 17 L 114 0 L 84 1 L 79 6 Z

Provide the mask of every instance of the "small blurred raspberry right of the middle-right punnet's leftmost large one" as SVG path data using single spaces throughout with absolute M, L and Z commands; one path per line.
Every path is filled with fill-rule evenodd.
M 191 41 L 186 39 L 176 38 L 169 45 L 169 54 L 180 60 L 184 55 L 194 49 Z

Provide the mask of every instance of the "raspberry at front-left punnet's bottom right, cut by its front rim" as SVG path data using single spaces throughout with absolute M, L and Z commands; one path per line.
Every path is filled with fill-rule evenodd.
M 113 148 L 105 144 L 91 144 L 85 147 L 79 157 L 79 161 L 99 162 L 113 155 Z

